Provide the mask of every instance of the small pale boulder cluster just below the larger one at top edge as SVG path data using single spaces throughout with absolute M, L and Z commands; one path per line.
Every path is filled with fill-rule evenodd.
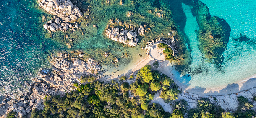
M 72 31 L 76 31 L 78 27 L 79 25 L 76 22 L 73 25 L 71 23 L 65 23 L 65 21 L 61 22 L 60 18 L 57 16 L 54 17 L 53 20 L 50 20 L 44 24 L 44 28 L 48 30 L 48 32 L 56 32 L 57 30 L 66 32 L 69 29 L 72 33 Z

